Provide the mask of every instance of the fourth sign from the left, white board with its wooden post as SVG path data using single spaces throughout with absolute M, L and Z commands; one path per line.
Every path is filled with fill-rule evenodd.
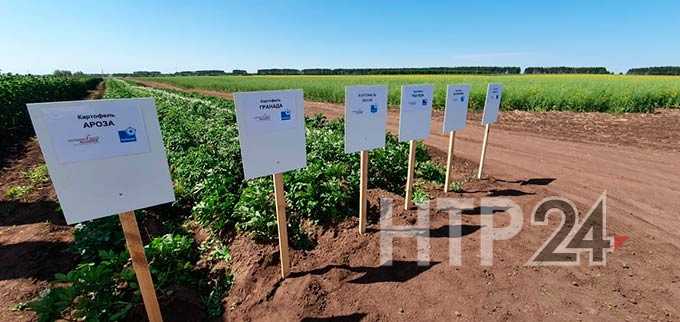
M 404 209 L 409 209 L 411 206 L 413 173 L 416 162 L 416 140 L 425 139 L 430 135 L 432 92 L 432 85 L 404 85 L 401 87 L 399 141 L 409 141 Z

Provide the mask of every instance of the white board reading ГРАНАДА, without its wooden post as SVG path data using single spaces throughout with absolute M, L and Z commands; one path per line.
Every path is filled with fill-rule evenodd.
M 246 179 L 307 165 L 302 90 L 234 94 Z

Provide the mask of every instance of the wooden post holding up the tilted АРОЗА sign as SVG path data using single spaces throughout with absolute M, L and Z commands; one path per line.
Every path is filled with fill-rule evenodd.
M 156 289 L 153 286 L 149 263 L 144 255 L 144 245 L 142 244 L 142 236 L 139 233 L 135 213 L 128 211 L 118 215 L 118 218 L 120 218 L 120 223 L 123 226 L 125 243 L 130 251 L 132 268 L 135 270 L 135 275 L 137 275 L 137 283 L 139 284 L 139 290 L 142 292 L 146 314 L 149 317 L 149 321 L 162 322 L 163 317 L 158 305 L 158 299 L 156 298 Z

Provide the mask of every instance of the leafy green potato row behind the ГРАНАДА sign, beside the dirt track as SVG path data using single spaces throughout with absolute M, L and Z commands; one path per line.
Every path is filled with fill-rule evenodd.
M 236 229 L 260 240 L 276 237 L 271 178 L 245 181 L 232 101 L 108 83 L 108 98 L 153 97 L 179 203 L 212 231 Z M 328 224 L 358 207 L 359 159 L 344 153 L 342 120 L 306 119 L 307 167 L 284 175 L 289 225 L 294 243 L 308 242 L 302 223 Z M 369 186 L 402 193 L 408 145 L 387 135 L 387 145 L 371 152 Z M 418 169 L 431 179 L 441 167 L 420 145 Z M 436 169 L 432 171 L 432 169 Z M 427 178 L 426 178 L 427 179 Z M 303 245 L 301 245 L 303 246 Z

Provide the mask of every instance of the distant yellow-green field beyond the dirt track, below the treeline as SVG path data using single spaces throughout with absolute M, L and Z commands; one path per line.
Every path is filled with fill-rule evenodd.
M 143 78 L 185 88 L 226 92 L 302 88 L 313 101 L 342 103 L 344 87 L 386 84 L 391 105 L 399 104 L 400 86 L 429 83 L 435 87 L 435 107 L 444 105 L 447 84 L 472 87 L 471 106 L 484 105 L 486 84 L 505 86 L 503 109 L 527 111 L 650 112 L 680 107 L 680 77 L 620 75 L 370 75 L 370 76 L 183 76 Z

